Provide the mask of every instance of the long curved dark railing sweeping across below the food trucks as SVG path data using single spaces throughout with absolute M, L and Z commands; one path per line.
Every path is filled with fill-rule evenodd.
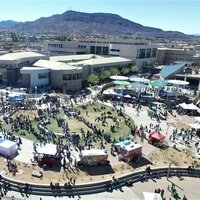
M 191 169 L 188 168 L 171 168 L 168 173 L 168 168 L 156 168 L 152 169 L 149 173 L 147 171 L 139 171 L 135 173 L 131 173 L 125 176 L 121 176 L 117 178 L 116 182 L 112 182 L 112 180 L 102 181 L 102 182 L 94 182 L 87 184 L 78 184 L 71 185 L 70 188 L 65 188 L 63 185 L 59 186 L 59 188 L 52 189 L 50 185 L 39 185 L 39 184 L 29 184 L 30 190 L 26 192 L 20 189 L 20 185 L 25 185 L 24 182 L 19 182 L 16 180 L 9 179 L 2 175 L 0 179 L 0 183 L 5 185 L 7 183 L 7 190 L 15 191 L 15 192 L 23 192 L 32 195 L 39 196 L 79 196 L 79 195 L 87 195 L 87 194 L 95 194 L 108 191 L 107 184 L 110 184 L 112 189 L 119 189 L 124 187 L 127 184 L 127 181 L 132 184 L 148 180 L 155 179 L 161 177 L 169 177 L 172 176 L 180 176 L 180 177 L 196 177 L 200 178 L 200 169 Z

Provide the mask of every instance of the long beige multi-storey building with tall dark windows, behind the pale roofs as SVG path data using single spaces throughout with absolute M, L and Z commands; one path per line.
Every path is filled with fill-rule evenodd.
M 120 56 L 133 60 L 140 68 L 155 63 L 157 45 L 146 40 L 80 39 L 75 41 L 44 41 L 50 55 L 95 54 Z

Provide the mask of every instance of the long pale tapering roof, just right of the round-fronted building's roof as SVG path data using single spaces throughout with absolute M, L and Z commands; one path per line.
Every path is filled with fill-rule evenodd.
M 94 58 L 90 60 L 76 62 L 76 65 L 103 65 L 103 64 L 117 64 L 127 62 L 130 63 L 133 60 L 123 57 L 102 57 L 102 58 Z M 72 64 L 72 63 L 71 63 Z

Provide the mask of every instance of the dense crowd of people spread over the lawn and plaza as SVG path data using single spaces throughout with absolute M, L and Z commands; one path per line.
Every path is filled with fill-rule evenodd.
M 100 99 L 102 100 L 102 99 Z M 87 148 L 90 149 L 93 146 L 93 143 L 97 140 L 100 141 L 100 148 L 104 148 L 104 142 L 114 142 L 115 138 L 113 139 L 111 137 L 110 133 L 107 133 L 104 128 L 99 127 L 109 127 L 111 133 L 117 132 L 117 129 L 120 128 L 120 122 L 123 119 L 124 123 L 130 128 L 132 136 L 135 138 L 136 136 L 139 136 L 141 138 L 141 141 L 145 138 L 147 138 L 147 134 L 150 133 L 152 130 L 160 131 L 160 119 L 161 116 L 157 115 L 157 123 L 155 126 L 153 124 L 149 124 L 148 126 L 143 126 L 142 124 L 140 126 L 133 125 L 131 123 L 130 117 L 125 115 L 125 106 L 130 106 L 130 102 L 123 101 L 122 99 L 109 99 L 109 102 L 113 106 L 111 111 L 107 111 L 105 106 L 95 107 L 94 102 L 97 101 L 96 98 L 93 99 L 92 102 L 89 104 L 85 104 L 85 96 L 81 95 L 77 98 L 67 98 L 67 99 L 60 99 L 60 98 L 50 98 L 45 97 L 43 99 L 40 99 L 37 103 L 36 108 L 38 109 L 38 117 L 35 116 L 34 123 L 37 123 L 37 129 L 33 126 L 33 120 L 29 118 L 27 115 L 19 115 L 15 118 L 12 117 L 12 113 L 18 109 L 29 109 L 30 104 L 27 104 L 26 106 L 17 105 L 8 106 L 7 104 L 3 105 L 5 107 L 4 110 L 2 110 L 2 114 L 4 115 L 4 120 L 7 124 L 11 125 L 10 132 L 7 130 L 4 130 L 2 128 L 2 133 L 4 138 L 10 139 L 10 140 L 17 140 L 18 145 L 22 143 L 21 138 L 16 138 L 12 132 L 14 131 L 20 131 L 21 135 L 24 134 L 25 130 L 27 132 L 30 132 L 31 134 L 35 135 L 37 141 L 39 143 L 45 144 L 48 142 L 52 142 L 54 144 L 60 145 L 63 149 L 61 152 L 62 159 L 63 159 L 63 169 L 66 170 L 67 167 L 77 167 L 77 161 L 76 159 L 71 155 L 70 151 L 70 145 L 73 145 L 75 148 L 77 148 L 79 151 Z M 107 101 L 107 99 L 102 100 Z M 95 118 L 95 122 L 99 124 L 99 126 L 96 126 L 93 124 L 90 120 L 87 119 L 87 117 L 83 117 L 81 115 L 80 110 L 76 110 L 75 106 L 76 104 L 82 104 L 82 109 L 85 110 L 85 114 L 88 117 L 90 115 L 89 110 L 87 109 L 87 105 L 93 106 L 93 111 L 96 113 L 100 113 L 99 117 Z M 132 103 L 132 102 L 131 102 Z M 45 105 L 45 108 L 42 108 L 42 105 Z M 137 115 L 139 115 L 139 112 L 141 111 L 141 104 L 140 101 L 134 102 L 133 107 L 136 109 Z M 35 109 L 34 107 L 31 107 L 31 109 Z M 60 118 L 60 111 L 64 110 L 65 115 L 70 118 L 75 118 L 81 122 L 83 122 L 91 131 L 86 131 L 84 129 L 80 130 L 79 133 L 71 133 L 70 128 L 68 127 L 68 123 L 66 120 Z M 117 115 L 113 116 L 112 112 L 117 111 Z M 156 107 L 156 111 L 159 111 L 162 113 L 163 116 L 167 117 L 167 111 L 163 110 L 159 105 Z M 150 116 L 152 117 L 152 116 Z M 55 132 L 48 130 L 46 127 L 49 123 L 49 119 L 56 119 L 58 126 L 62 127 L 63 135 L 56 134 Z M 112 120 L 112 125 L 109 124 L 108 120 Z M 81 142 L 81 137 L 83 138 L 84 143 Z M 176 140 L 180 140 L 185 145 L 189 144 L 190 141 L 192 141 L 195 138 L 195 132 L 192 130 L 178 130 L 175 129 L 170 136 L 170 140 L 172 142 L 176 142 Z M 120 140 L 121 138 L 119 138 Z M 67 141 L 67 142 L 66 142 Z M 199 144 L 198 144 L 199 145 Z M 196 145 L 197 151 L 200 150 L 199 146 Z M 34 150 L 36 151 L 36 148 L 34 147 Z M 68 165 L 69 163 L 69 165 Z M 66 188 L 70 188 L 73 184 L 75 184 L 76 180 L 75 178 L 72 180 L 69 178 L 69 182 L 65 184 Z M 115 183 L 115 180 L 113 179 L 113 183 Z M 107 189 L 110 190 L 112 188 L 111 185 L 106 185 Z M 53 184 L 51 182 L 52 189 L 59 188 L 59 183 Z M 23 188 L 28 188 L 23 186 Z M 29 190 L 29 189 L 27 189 Z M 161 190 L 162 191 L 162 190 Z M 159 193 L 161 193 L 161 191 Z M 164 192 L 163 192 L 164 194 Z

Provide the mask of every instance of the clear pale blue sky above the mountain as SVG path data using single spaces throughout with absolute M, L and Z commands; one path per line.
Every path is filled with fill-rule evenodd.
M 144 26 L 200 33 L 200 0 L 0 0 L 0 21 L 33 21 L 67 10 L 114 13 Z

